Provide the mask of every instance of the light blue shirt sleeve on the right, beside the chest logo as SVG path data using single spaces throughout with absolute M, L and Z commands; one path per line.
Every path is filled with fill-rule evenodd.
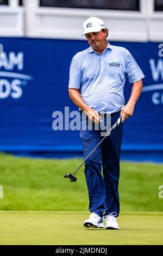
M 129 83 L 133 84 L 137 81 L 144 78 L 144 74 L 141 71 L 139 65 L 136 63 L 136 60 L 131 55 L 129 51 L 127 51 L 127 57 L 126 57 L 126 71 L 127 71 L 127 78 Z

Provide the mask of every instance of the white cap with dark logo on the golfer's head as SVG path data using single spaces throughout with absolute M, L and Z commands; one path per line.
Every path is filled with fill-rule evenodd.
M 91 32 L 99 32 L 101 29 L 105 28 L 104 22 L 96 17 L 91 17 L 84 21 L 83 23 L 83 29 L 84 29 L 84 34 L 86 33 L 91 33 Z M 83 36 L 82 35 L 82 36 Z

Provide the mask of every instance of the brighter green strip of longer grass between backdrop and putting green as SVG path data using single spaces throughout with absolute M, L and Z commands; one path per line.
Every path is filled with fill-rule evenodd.
M 0 185 L 4 198 L 0 210 L 87 211 L 88 194 L 84 167 L 71 183 L 63 176 L 73 172 L 82 159 L 45 160 L 0 154 Z M 124 211 L 162 211 L 163 165 L 121 163 L 120 203 Z

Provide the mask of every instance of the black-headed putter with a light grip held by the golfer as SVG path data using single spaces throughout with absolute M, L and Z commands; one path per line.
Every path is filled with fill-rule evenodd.
M 91 153 L 86 157 L 86 159 L 78 166 L 78 168 L 74 171 L 73 174 L 71 173 L 67 173 L 66 175 L 64 175 L 64 178 L 69 178 L 70 179 L 70 182 L 76 182 L 77 181 L 77 178 L 75 176 L 73 176 L 77 170 L 83 166 L 83 164 L 85 163 L 85 161 L 93 154 L 93 152 L 95 152 L 95 150 L 97 149 L 97 147 L 104 141 L 104 139 L 107 137 L 107 136 L 110 136 L 110 133 L 121 123 L 122 121 L 122 115 L 118 118 L 118 120 L 116 121 L 116 123 L 114 125 L 112 125 L 112 127 L 110 128 L 110 130 L 108 131 L 108 133 L 106 133 L 106 135 L 103 137 L 103 139 L 101 140 L 101 142 L 99 142 L 97 144 L 97 146 L 91 151 Z

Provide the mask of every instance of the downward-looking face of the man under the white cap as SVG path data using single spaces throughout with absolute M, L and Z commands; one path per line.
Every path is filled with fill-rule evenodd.
M 105 31 L 99 31 L 99 32 L 91 32 L 85 34 L 85 37 L 87 41 L 89 42 L 89 45 L 94 50 L 101 49 L 106 44 L 106 35 L 107 35 L 107 29 Z

